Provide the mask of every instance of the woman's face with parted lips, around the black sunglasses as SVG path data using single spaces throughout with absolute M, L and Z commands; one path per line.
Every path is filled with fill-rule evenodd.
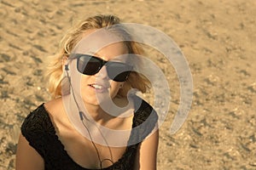
M 128 54 L 128 49 L 124 42 L 108 31 L 86 31 L 84 38 L 73 49 L 73 53 L 89 54 L 105 61 L 121 63 L 128 59 L 125 55 Z M 84 75 L 77 69 L 77 59 L 71 62 L 70 77 L 75 95 L 79 94 L 84 104 L 90 105 L 100 105 L 104 102 L 106 104 L 106 101 L 114 99 L 119 88 L 125 83 L 110 79 L 106 65 L 103 65 L 96 74 Z

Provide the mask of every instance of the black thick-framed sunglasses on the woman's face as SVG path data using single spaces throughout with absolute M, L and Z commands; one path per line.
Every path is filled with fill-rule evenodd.
M 132 70 L 131 65 L 105 61 L 90 54 L 71 54 L 68 59 L 77 59 L 77 69 L 84 75 L 95 75 L 106 65 L 108 77 L 115 82 L 125 82 Z

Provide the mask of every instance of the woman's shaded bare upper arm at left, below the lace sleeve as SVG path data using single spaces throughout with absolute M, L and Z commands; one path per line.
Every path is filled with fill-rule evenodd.
M 28 144 L 26 138 L 20 134 L 16 152 L 16 170 L 44 170 L 44 160 L 37 150 Z

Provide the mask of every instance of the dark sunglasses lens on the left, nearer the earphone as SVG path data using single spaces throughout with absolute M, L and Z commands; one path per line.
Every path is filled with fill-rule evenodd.
M 101 69 L 101 62 L 99 59 L 91 57 L 90 55 L 80 56 L 78 59 L 78 70 L 84 75 L 95 75 Z

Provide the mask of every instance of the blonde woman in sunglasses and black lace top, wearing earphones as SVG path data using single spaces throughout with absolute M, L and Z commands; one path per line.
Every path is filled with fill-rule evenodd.
M 53 99 L 23 122 L 17 170 L 156 169 L 157 115 L 128 93 L 149 87 L 133 69 L 142 48 L 116 25 L 119 18 L 96 15 L 62 39 L 49 63 Z

